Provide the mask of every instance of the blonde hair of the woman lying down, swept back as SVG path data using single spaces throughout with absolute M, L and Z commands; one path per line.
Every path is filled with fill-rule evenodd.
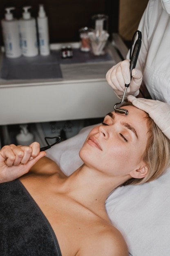
M 129 104 L 125 104 L 127 106 Z M 170 166 L 170 139 L 163 134 L 159 127 L 145 112 L 148 126 L 148 141 L 141 159 L 148 166 L 148 173 L 141 179 L 132 178 L 123 185 L 143 184 L 155 180 Z

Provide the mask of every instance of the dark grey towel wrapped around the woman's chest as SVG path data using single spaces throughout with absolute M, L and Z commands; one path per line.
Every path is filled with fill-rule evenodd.
M 51 225 L 19 180 L 0 184 L 0 256 L 61 256 Z

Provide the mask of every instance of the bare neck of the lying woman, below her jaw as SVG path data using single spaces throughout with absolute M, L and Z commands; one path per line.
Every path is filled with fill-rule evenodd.
M 65 192 L 85 207 L 95 211 L 105 209 L 108 195 L 129 177 L 108 177 L 83 164 L 64 181 Z

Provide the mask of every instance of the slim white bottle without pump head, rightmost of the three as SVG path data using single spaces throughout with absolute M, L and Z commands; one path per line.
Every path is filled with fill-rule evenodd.
M 49 30 L 48 30 L 48 18 L 46 16 L 44 6 L 42 4 L 39 5 L 38 11 L 38 37 L 39 37 L 39 47 L 40 47 L 40 55 L 49 55 Z

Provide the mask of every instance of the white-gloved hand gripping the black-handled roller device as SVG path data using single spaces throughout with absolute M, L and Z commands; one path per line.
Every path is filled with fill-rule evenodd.
M 142 83 L 142 73 L 137 68 L 132 70 L 132 80 L 130 82 L 130 61 L 125 60 L 117 63 L 106 74 L 106 79 L 108 84 L 113 88 L 119 99 L 122 98 L 123 92 L 125 90 L 125 84 L 130 86 L 126 90 L 126 97 L 129 94 L 137 96 L 139 94 L 139 88 Z

